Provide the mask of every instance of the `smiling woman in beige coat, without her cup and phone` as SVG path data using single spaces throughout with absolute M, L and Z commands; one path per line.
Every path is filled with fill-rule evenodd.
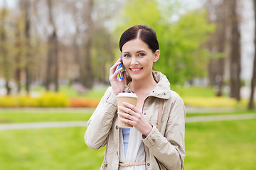
M 88 121 L 86 144 L 106 146 L 101 169 L 182 169 L 185 108 L 164 74 L 152 70 L 160 56 L 156 33 L 149 26 L 132 26 L 122 34 L 119 48 L 126 78 L 117 79 L 124 71 L 117 69 L 119 59 L 110 68 L 111 87 Z M 137 94 L 137 106 L 124 103 L 117 113 L 117 94 L 123 91 Z M 117 114 L 133 128 L 119 128 Z

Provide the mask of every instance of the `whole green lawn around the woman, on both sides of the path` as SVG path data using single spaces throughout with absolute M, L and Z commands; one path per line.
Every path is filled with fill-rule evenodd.
M 18 115 L 15 111 L 0 112 L 0 118 L 9 118 L 12 122 L 87 120 L 88 117 L 90 113 L 23 112 Z M 256 120 L 186 123 L 185 168 L 255 169 L 255 129 Z M 83 140 L 85 130 L 86 128 L 0 130 L 0 169 L 100 169 L 104 148 L 88 148 Z

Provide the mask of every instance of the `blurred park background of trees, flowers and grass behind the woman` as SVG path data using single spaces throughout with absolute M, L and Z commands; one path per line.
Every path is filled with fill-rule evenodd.
M 255 4 L 0 0 L 1 169 L 100 169 L 104 148 L 87 148 L 86 121 L 135 24 L 156 31 L 154 69 L 186 105 L 185 168 L 255 168 Z M 69 121 L 84 125 L 22 126 Z

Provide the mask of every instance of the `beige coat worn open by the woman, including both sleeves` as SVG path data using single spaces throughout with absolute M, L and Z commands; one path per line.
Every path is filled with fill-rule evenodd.
M 185 107 L 181 97 L 170 90 L 169 81 L 164 74 L 153 72 L 153 75 L 158 84 L 144 101 L 142 111 L 153 125 L 150 134 L 146 138 L 142 137 L 146 169 L 182 169 L 185 157 Z M 124 91 L 129 91 L 128 86 Z M 156 123 L 160 98 L 164 99 L 164 105 L 159 132 Z M 88 121 L 85 132 L 88 147 L 100 149 L 106 146 L 101 169 L 117 170 L 119 167 L 119 132 L 117 96 L 112 93 L 110 87 Z

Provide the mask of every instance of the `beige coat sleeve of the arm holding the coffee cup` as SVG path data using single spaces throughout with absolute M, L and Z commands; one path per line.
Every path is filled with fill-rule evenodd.
M 178 94 L 174 94 L 174 98 L 164 135 L 153 126 L 150 134 L 143 140 L 151 154 L 166 169 L 182 169 L 185 157 L 185 106 Z

